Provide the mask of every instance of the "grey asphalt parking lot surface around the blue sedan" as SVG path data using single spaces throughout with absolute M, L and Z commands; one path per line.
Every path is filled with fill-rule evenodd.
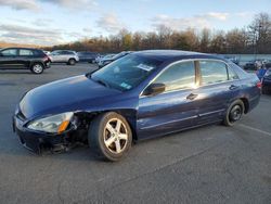
M 22 94 L 94 68 L 0 71 L 0 203 L 271 203 L 271 95 L 232 128 L 140 142 L 118 163 L 96 160 L 87 146 L 43 156 L 24 149 L 11 127 Z

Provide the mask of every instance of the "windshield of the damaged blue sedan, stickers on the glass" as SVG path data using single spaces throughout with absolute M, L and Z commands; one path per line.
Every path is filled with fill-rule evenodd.
M 90 77 L 104 86 L 127 91 L 142 82 L 160 64 L 162 61 L 155 59 L 129 54 L 96 71 Z

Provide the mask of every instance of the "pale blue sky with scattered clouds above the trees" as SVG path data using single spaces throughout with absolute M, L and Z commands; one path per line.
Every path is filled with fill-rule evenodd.
M 121 28 L 242 28 L 271 0 L 0 0 L 0 41 L 51 46 Z

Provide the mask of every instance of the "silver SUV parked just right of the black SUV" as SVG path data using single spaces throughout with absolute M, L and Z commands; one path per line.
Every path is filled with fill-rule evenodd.
M 52 63 L 66 63 L 68 65 L 75 65 L 79 62 L 79 58 L 75 51 L 72 50 L 55 50 L 49 54 Z

